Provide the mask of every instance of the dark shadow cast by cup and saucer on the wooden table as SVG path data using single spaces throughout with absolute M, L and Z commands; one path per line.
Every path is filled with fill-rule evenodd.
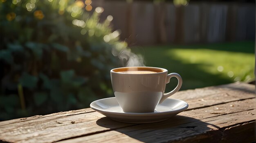
M 195 118 L 176 115 L 166 121 L 151 123 L 151 124 L 127 124 L 126 128 L 115 128 L 115 124 L 119 123 L 113 121 L 108 117 L 103 117 L 97 120 L 97 125 L 109 128 L 126 134 L 129 137 L 137 139 L 142 142 L 161 142 L 168 141 L 220 141 L 216 138 L 219 134 L 219 127 L 213 124 L 200 121 Z M 126 124 L 126 123 L 124 123 Z M 193 125 L 193 126 L 191 126 Z M 208 132 L 213 131 L 213 132 Z M 198 135 L 201 134 L 199 136 Z

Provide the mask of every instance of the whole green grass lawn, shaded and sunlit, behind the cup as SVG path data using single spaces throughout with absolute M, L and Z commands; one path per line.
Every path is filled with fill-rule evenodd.
M 248 82 L 254 76 L 254 42 L 132 47 L 148 67 L 163 67 L 182 76 L 181 90 Z M 177 84 L 171 79 L 166 92 Z

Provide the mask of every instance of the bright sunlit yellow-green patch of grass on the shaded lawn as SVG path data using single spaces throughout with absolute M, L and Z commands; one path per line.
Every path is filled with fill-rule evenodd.
M 182 63 L 200 64 L 205 72 L 235 81 L 245 81 L 254 77 L 254 54 L 226 52 L 209 49 L 170 49 L 171 56 Z

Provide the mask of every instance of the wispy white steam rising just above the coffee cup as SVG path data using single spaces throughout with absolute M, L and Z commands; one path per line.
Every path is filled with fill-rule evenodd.
M 143 57 L 141 55 L 136 55 L 131 52 L 130 48 L 124 48 L 117 53 L 117 51 L 112 51 L 114 56 L 118 56 L 120 63 L 123 67 L 144 67 Z

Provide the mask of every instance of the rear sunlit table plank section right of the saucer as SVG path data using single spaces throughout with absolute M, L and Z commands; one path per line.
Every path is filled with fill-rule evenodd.
M 255 85 L 244 82 L 235 82 L 227 85 L 205 87 L 179 91 L 171 98 L 184 100 L 189 104 L 188 110 L 204 108 L 243 99 L 255 98 Z

